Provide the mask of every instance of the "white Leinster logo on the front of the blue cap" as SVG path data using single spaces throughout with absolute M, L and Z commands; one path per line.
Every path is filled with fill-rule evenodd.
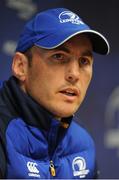
M 60 23 L 70 22 L 72 24 L 84 24 L 84 22 L 79 18 L 79 16 L 71 11 L 63 11 L 59 15 Z

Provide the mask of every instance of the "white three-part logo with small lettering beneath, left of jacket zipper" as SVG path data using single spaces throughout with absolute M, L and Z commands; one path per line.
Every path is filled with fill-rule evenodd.
M 38 164 L 35 162 L 28 161 L 27 168 L 29 170 L 28 176 L 40 177 L 39 170 L 37 169 Z

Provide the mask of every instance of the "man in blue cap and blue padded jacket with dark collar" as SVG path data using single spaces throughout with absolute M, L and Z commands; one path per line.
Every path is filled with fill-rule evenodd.
M 75 120 L 93 51 L 109 44 L 68 9 L 37 14 L 20 36 L 0 88 L 1 178 L 95 178 L 95 147 Z

